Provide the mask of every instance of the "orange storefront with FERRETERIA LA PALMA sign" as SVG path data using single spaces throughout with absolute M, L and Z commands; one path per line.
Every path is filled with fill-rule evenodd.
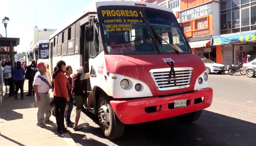
M 210 46 L 210 40 L 212 35 L 219 34 L 219 15 L 216 11 L 219 10 L 219 3 L 197 1 L 195 4 L 197 4 L 195 7 L 188 6 L 188 9 L 179 12 L 184 34 L 197 56 L 216 62 L 218 60 L 216 46 Z M 186 8 L 186 3 L 181 3 L 181 8 Z

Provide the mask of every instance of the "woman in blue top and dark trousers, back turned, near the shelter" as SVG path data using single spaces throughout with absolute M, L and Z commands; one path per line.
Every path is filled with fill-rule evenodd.
M 17 96 L 18 96 L 19 89 L 20 89 L 20 97 L 21 97 L 21 99 L 24 99 L 23 98 L 23 86 L 24 86 L 24 81 L 25 81 L 24 80 L 25 69 L 21 67 L 21 62 L 20 61 L 17 62 L 16 67 L 13 67 L 12 75 L 14 76 L 13 80 L 14 80 L 14 84 L 16 86 L 15 99 L 18 99 Z

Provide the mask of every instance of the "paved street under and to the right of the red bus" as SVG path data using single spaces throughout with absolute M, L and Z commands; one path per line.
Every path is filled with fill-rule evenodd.
M 255 146 L 256 78 L 210 74 L 209 79 L 214 100 L 194 123 L 182 124 L 169 118 L 125 125 L 124 135 L 109 141 L 101 133 L 96 117 L 84 112 L 79 123 L 85 128 L 72 131 L 70 136 L 77 145 Z

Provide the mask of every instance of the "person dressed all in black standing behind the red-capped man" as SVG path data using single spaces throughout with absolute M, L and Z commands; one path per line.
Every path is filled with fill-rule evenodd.
M 31 63 L 32 64 L 28 66 L 25 75 L 25 78 L 28 79 L 28 94 L 26 96 L 32 96 L 32 93 L 33 96 L 35 96 L 35 91 L 33 90 L 33 81 L 38 68 L 35 60 L 32 60 Z

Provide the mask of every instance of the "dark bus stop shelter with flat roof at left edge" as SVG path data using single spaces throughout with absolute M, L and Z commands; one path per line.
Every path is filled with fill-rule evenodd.
M 0 37 L 0 47 L 9 47 L 10 51 L 1 51 L 0 54 L 2 55 L 10 55 L 10 59 L 11 59 L 11 69 L 14 67 L 14 52 L 13 52 L 13 47 L 18 46 L 20 44 L 20 38 L 12 38 L 12 37 Z M 8 60 L 6 60 L 8 61 Z M 1 87 L 1 98 L 0 98 L 0 108 L 2 108 L 2 101 L 3 101 L 3 74 L 2 74 L 2 69 L 0 68 L 0 87 Z M 13 77 L 12 77 L 12 84 L 13 87 L 14 83 L 13 83 Z M 14 88 L 13 88 L 14 90 Z M 14 92 L 14 91 L 13 91 Z

